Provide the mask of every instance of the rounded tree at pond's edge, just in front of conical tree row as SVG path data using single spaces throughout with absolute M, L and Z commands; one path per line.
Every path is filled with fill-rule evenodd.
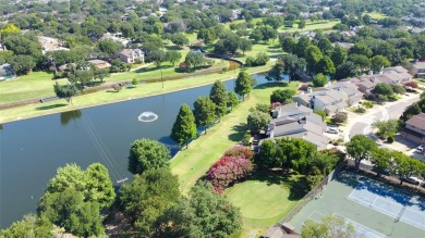
M 143 174 L 149 170 L 168 167 L 171 152 L 157 140 L 138 139 L 130 148 L 129 171 L 132 174 Z

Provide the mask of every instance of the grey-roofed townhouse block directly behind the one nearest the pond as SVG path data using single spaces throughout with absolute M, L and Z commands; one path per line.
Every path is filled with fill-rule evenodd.
M 363 98 L 363 93 L 350 82 L 326 86 L 318 91 L 309 90 L 307 93 L 294 96 L 292 99 L 301 105 L 323 110 L 332 115 L 347 107 L 353 107 Z

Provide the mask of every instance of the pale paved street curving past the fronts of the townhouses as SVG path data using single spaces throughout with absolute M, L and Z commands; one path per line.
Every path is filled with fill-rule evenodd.
M 389 102 L 386 103 L 386 105 L 374 107 L 369 110 L 369 112 L 353 118 L 352 122 L 349 122 L 347 128 L 344 129 L 345 141 L 355 135 L 365 135 L 371 133 L 372 123 L 378 120 L 399 118 L 400 115 L 403 114 L 406 107 L 413 104 L 418 100 L 418 95 L 411 95 L 409 98 L 403 98 L 397 102 Z

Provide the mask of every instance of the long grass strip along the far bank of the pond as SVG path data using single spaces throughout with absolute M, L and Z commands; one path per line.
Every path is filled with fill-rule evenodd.
M 250 74 L 264 72 L 271 67 L 272 62 L 265 66 L 243 68 Z M 211 74 L 205 76 L 196 76 L 178 80 L 169 80 L 163 83 L 151 83 L 139 85 L 136 88 L 123 88 L 120 92 L 112 90 L 97 91 L 93 93 L 82 95 L 72 99 L 73 104 L 68 104 L 65 100 L 51 101 L 46 103 L 28 104 L 19 108 L 3 109 L 0 111 L 0 123 L 11 122 L 15 120 L 29 118 L 40 115 L 53 114 L 59 112 L 72 111 L 99 104 L 113 103 L 148 96 L 161 95 L 171 91 L 183 90 L 191 87 L 199 87 L 212 84 L 216 80 L 227 80 L 238 76 L 241 70 L 227 72 L 224 74 Z M 52 88 L 52 87 L 51 87 Z M 2 91 L 2 90 L 1 90 Z

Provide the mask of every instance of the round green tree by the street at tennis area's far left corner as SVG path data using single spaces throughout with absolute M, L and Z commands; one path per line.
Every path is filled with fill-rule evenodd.
M 373 139 L 364 135 L 355 135 L 347 143 L 347 153 L 354 159 L 355 167 L 359 170 L 360 163 L 363 160 L 369 159 L 372 151 L 376 149 L 376 143 Z

